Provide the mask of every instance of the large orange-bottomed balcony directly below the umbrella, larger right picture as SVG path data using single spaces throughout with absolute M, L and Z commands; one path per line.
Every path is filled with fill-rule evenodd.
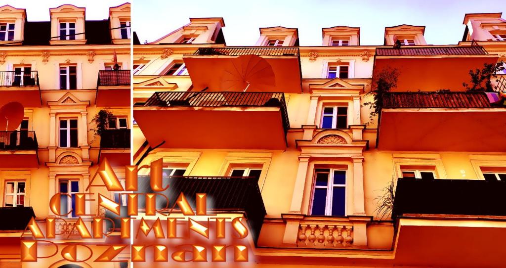
M 156 92 L 134 118 L 151 147 L 284 149 L 283 93 Z

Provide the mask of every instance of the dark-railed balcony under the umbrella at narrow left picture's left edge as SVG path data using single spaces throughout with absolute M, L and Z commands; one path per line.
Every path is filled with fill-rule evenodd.
M 0 168 L 38 166 L 35 131 L 0 131 Z

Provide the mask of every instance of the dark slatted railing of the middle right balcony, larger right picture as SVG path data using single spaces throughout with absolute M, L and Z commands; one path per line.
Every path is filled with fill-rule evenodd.
M 384 108 L 482 108 L 492 107 L 484 92 L 390 92 L 383 94 Z

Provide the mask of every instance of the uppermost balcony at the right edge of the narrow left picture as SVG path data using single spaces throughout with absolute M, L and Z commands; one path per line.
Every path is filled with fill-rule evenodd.
M 100 70 L 97 82 L 97 106 L 130 106 L 130 70 Z

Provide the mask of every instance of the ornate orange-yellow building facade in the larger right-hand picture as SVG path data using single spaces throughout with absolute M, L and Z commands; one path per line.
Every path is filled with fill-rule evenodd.
M 491 92 L 462 83 L 506 59 L 506 20 L 463 23 L 456 45 L 398 25 L 384 45 L 336 26 L 301 47 L 297 29 L 278 26 L 232 47 L 223 18 L 190 18 L 134 43 L 133 164 L 244 181 L 211 196 L 246 200 L 213 202 L 245 214 L 254 266 L 501 266 L 506 107 L 491 100 L 504 71 Z M 396 85 L 376 94 L 392 72 Z

